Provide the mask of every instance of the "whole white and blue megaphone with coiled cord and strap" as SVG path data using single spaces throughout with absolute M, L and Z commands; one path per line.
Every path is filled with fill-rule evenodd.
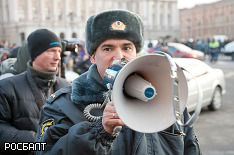
M 188 85 L 182 69 L 163 52 L 140 56 L 128 63 L 112 63 L 105 71 L 104 83 L 109 91 L 103 104 L 90 104 L 84 109 L 89 121 L 101 116 L 90 114 L 92 109 L 102 109 L 109 102 L 115 105 L 120 119 L 129 128 L 143 133 L 154 133 L 167 129 L 177 122 L 181 126 L 192 126 L 197 120 L 202 104 L 201 88 L 198 84 L 198 104 L 188 121 L 182 114 L 188 98 Z M 114 128 L 118 134 L 121 126 Z

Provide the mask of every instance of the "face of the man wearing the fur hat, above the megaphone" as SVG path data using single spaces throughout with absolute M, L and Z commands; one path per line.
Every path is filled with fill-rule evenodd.
M 136 47 L 133 42 L 124 39 L 108 39 L 98 46 L 91 57 L 91 62 L 97 65 L 98 72 L 104 79 L 104 73 L 113 60 L 121 60 L 124 57 L 130 61 L 136 56 Z

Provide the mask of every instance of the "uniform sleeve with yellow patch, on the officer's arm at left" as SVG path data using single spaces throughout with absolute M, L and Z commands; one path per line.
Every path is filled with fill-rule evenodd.
M 43 131 L 48 120 L 54 123 Z M 73 124 L 54 103 L 46 104 L 41 111 L 37 142 L 47 144 L 44 151 L 36 154 L 105 155 L 113 140 L 114 137 L 103 129 L 101 120 Z

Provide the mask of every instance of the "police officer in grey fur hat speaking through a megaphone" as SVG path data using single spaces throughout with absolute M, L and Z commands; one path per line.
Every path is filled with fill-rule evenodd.
M 138 15 L 112 10 L 91 16 L 86 24 L 86 48 L 93 63 L 75 79 L 72 87 L 57 91 L 48 99 L 40 117 L 37 142 L 46 142 L 37 154 L 64 155 L 197 155 L 199 145 L 193 128 L 177 123 L 156 133 L 140 133 L 124 125 L 112 101 L 91 121 L 83 114 L 92 103 L 102 104 L 108 91 L 104 73 L 113 60 L 132 60 L 143 46 L 143 24 Z M 189 115 L 184 111 L 183 121 Z M 119 134 L 113 134 L 122 126 Z

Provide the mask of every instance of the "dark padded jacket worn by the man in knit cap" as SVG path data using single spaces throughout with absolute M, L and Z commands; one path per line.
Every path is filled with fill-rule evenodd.
M 34 142 L 42 105 L 50 94 L 70 85 L 56 76 L 42 79 L 35 72 L 28 67 L 26 72 L 0 80 L 0 154 L 5 142 Z M 39 74 L 51 76 L 47 72 Z

